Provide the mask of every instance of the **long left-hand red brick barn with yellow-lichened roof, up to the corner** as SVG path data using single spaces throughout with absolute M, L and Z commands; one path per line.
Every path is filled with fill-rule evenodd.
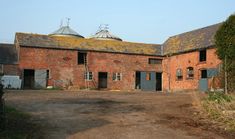
M 162 89 L 160 45 L 123 42 L 107 30 L 90 39 L 17 33 L 15 42 L 24 88 Z

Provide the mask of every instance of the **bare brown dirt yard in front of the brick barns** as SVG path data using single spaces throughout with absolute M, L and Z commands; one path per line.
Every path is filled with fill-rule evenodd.
M 235 138 L 198 116 L 190 93 L 7 91 L 45 139 Z

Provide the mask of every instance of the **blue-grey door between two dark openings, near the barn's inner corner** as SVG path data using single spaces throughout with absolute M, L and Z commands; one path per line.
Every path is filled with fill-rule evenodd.
M 156 91 L 156 72 L 140 72 L 140 84 L 143 91 Z

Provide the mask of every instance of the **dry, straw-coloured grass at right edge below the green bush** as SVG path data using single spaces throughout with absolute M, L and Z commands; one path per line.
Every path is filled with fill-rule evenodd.
M 234 96 L 222 92 L 209 92 L 202 104 L 210 119 L 221 123 L 225 130 L 235 131 Z

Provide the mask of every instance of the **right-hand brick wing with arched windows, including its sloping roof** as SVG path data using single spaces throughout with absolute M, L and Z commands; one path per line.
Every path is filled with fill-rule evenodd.
M 164 44 L 163 88 L 171 91 L 220 88 L 221 61 L 214 35 L 221 24 L 170 37 Z

